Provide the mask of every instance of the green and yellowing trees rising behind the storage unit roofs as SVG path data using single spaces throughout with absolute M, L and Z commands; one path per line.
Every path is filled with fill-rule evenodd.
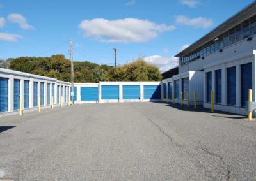
M 18 57 L 0 61 L 1 68 L 49 76 L 70 82 L 70 61 L 64 55 L 51 57 Z M 148 64 L 142 58 L 113 68 L 106 64 L 74 62 L 74 81 L 159 81 L 162 79 L 159 68 Z

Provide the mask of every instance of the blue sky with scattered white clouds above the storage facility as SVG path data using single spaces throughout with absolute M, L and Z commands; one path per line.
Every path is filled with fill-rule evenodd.
M 0 59 L 69 58 L 72 38 L 74 61 L 113 66 L 115 47 L 118 64 L 145 57 L 165 71 L 177 65 L 173 55 L 252 1 L 0 0 Z

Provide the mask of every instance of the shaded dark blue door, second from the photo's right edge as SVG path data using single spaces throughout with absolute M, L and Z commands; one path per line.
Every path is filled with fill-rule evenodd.
M 236 67 L 227 69 L 228 105 L 236 106 Z

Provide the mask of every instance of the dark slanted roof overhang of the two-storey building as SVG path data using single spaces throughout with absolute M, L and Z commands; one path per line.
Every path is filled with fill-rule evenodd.
M 237 24 L 243 22 L 243 20 L 246 20 L 247 18 L 250 18 L 255 14 L 256 1 L 253 1 L 253 3 L 243 8 L 243 10 L 236 13 L 236 15 L 232 16 L 231 18 L 223 22 L 223 24 L 212 30 L 210 33 L 200 38 L 188 48 L 182 50 L 182 52 L 180 52 L 179 54 L 175 55 L 175 57 L 182 57 L 184 55 L 187 55 L 189 52 L 192 52 L 193 50 L 204 45 L 205 43 L 214 40 L 214 38 L 217 38 L 217 36 L 219 36 L 220 34 L 225 33 L 225 31 L 228 31 L 228 29 L 235 27 Z

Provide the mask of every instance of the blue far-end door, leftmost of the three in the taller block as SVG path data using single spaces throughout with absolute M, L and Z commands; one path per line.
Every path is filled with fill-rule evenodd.
M 101 99 L 119 99 L 119 85 L 101 85 Z

